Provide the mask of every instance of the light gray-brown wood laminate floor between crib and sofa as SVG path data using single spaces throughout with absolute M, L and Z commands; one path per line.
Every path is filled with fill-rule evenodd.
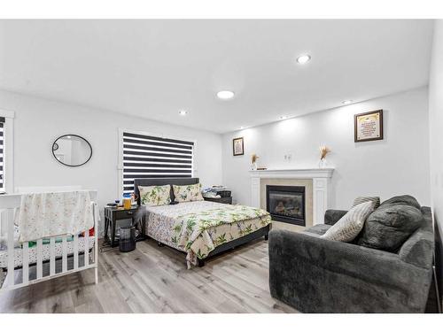
M 296 313 L 270 297 L 268 242 L 245 244 L 186 269 L 184 254 L 153 240 L 99 254 L 93 270 L 0 295 L 1 313 Z

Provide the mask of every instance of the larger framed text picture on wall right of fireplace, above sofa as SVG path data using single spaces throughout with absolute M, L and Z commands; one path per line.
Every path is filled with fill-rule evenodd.
M 354 142 L 383 140 L 383 110 L 354 115 Z

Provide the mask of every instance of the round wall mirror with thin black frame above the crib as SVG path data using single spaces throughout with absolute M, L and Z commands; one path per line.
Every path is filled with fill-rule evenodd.
M 52 144 L 52 154 L 63 165 L 82 166 L 92 157 L 92 147 L 82 136 L 63 135 Z

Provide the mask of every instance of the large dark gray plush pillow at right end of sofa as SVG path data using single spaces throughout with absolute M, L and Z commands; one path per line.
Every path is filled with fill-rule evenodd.
M 357 244 L 395 252 L 423 222 L 422 212 L 414 206 L 380 205 L 366 220 Z

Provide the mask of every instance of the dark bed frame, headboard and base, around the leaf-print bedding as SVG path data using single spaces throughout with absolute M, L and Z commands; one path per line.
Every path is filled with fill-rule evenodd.
M 144 178 L 144 179 L 135 179 L 134 180 L 134 192 L 137 197 L 137 204 L 140 205 L 140 191 L 138 190 L 138 186 L 164 186 L 166 184 L 175 184 L 179 186 L 186 186 L 189 184 L 197 184 L 199 183 L 198 178 Z M 171 188 L 171 202 L 174 202 L 174 190 Z M 230 251 L 242 244 L 250 243 L 251 241 L 260 238 L 261 236 L 265 237 L 265 240 L 268 240 L 270 225 L 260 228 L 253 233 L 248 235 L 239 237 L 233 241 L 229 241 L 228 243 L 223 243 L 216 247 L 214 251 L 209 252 L 206 259 L 198 259 L 198 267 L 205 266 L 205 262 L 207 259 L 214 257 L 215 255 L 219 255 L 222 252 Z M 165 243 L 160 243 L 159 240 L 154 239 L 159 243 L 159 245 L 167 245 Z M 172 248 L 172 247 L 170 247 Z M 172 248 L 175 249 L 175 248 Z M 182 252 L 182 251 L 181 251 Z

